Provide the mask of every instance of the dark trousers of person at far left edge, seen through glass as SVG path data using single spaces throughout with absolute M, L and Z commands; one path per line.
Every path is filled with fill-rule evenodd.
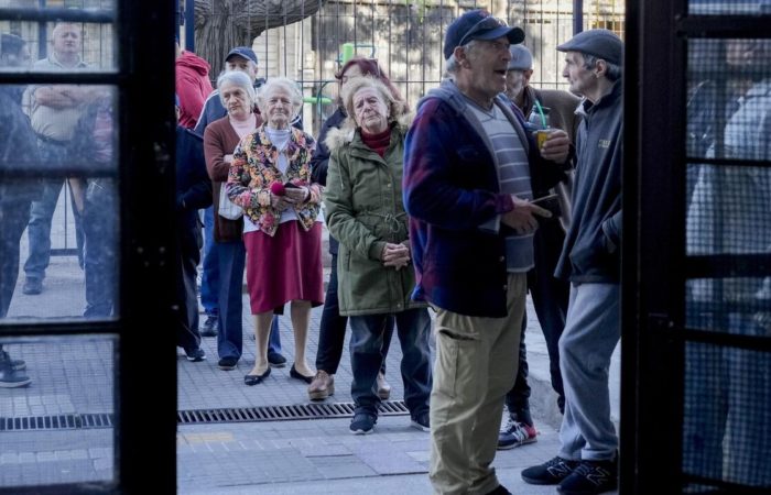
M 0 198 L 0 318 L 6 318 L 19 278 L 19 242 L 30 221 L 30 205 Z M 1 348 L 0 348 L 1 349 Z

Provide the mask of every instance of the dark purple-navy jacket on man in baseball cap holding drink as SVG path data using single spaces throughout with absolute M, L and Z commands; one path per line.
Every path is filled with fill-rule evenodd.
M 530 153 L 534 143 L 522 117 L 502 98 L 496 105 L 529 152 L 531 173 L 549 170 L 539 180 L 558 182 L 562 167 Z M 495 220 L 513 209 L 513 201 L 499 193 L 491 150 L 481 129 L 465 117 L 466 106 L 446 81 L 419 103 L 406 135 L 402 190 L 415 266 L 412 297 L 461 315 L 502 318 L 507 228 L 498 229 Z

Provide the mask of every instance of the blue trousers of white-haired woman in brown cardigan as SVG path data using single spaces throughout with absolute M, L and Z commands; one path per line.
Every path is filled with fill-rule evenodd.
M 217 354 L 241 359 L 243 352 L 243 268 L 247 250 L 241 241 L 218 242 L 216 253 L 219 273 L 219 314 L 217 316 Z M 202 288 L 203 290 L 203 288 Z M 273 317 L 268 352 L 281 352 L 279 318 Z

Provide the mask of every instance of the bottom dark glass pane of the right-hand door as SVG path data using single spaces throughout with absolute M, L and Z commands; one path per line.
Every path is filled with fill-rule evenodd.
M 685 352 L 683 471 L 771 487 L 771 354 L 703 343 Z

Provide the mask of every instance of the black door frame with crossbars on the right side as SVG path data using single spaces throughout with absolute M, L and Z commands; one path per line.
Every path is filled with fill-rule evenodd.
M 726 256 L 694 260 L 685 254 L 688 40 L 769 37 L 769 16 L 687 11 L 687 0 L 627 2 L 620 459 L 625 495 L 682 493 L 688 480 L 682 470 L 686 342 L 751 344 L 771 351 L 769 341 L 685 326 L 686 279 L 725 276 L 715 270 L 726 262 Z M 737 258 L 732 267 L 747 271 L 750 265 L 742 264 L 741 256 L 730 257 Z M 752 260 L 752 276 L 771 273 L 763 257 L 764 266 Z

